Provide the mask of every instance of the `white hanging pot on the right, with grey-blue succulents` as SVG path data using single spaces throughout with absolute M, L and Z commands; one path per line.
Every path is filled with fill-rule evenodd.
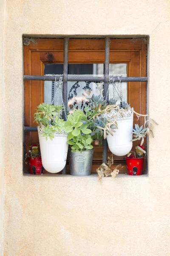
M 110 113 L 105 113 L 103 116 L 114 120 L 111 116 L 114 116 L 116 111 L 113 110 Z M 122 115 L 117 118 L 118 129 L 115 129 L 113 136 L 108 134 L 106 136 L 110 151 L 116 156 L 124 156 L 132 149 L 132 131 L 133 131 L 133 109 L 128 108 L 127 111 L 123 111 Z

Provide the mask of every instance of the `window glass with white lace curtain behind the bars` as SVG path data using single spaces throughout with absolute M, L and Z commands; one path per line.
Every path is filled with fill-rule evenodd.
M 127 64 L 110 64 L 109 75 L 114 76 L 127 76 Z M 63 64 L 45 64 L 44 75 L 52 76 L 63 73 Z M 68 74 L 70 76 L 103 76 L 104 64 L 68 64 Z M 62 88 L 61 88 L 62 93 Z M 127 83 L 122 83 L 122 93 L 127 100 Z M 68 110 L 71 111 L 74 108 L 84 109 L 87 105 L 88 99 L 92 95 L 103 95 L 103 82 L 71 82 L 68 81 Z M 56 86 L 54 81 L 44 82 L 44 102 L 51 103 L 56 95 Z M 113 87 L 109 86 L 109 99 L 113 98 Z M 120 102 L 117 99 L 117 103 Z M 62 104 L 60 95 L 56 95 L 54 99 L 54 105 Z

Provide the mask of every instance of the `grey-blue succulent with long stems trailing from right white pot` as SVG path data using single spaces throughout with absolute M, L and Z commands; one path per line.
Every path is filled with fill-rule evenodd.
M 119 117 L 119 115 L 122 115 L 123 111 L 127 111 L 130 108 L 130 105 L 128 105 L 125 101 L 122 101 L 119 105 L 116 105 L 115 99 L 110 99 L 108 100 L 108 104 L 105 104 L 104 97 L 100 95 L 93 95 L 90 100 L 89 107 L 92 110 L 92 116 L 94 119 L 93 133 L 96 135 L 96 139 L 105 139 L 108 133 L 113 136 L 113 132 L 115 132 L 115 129 L 118 128 L 116 119 Z M 113 110 L 116 111 L 114 119 L 109 119 L 102 116 L 103 113 L 110 113 Z M 144 126 L 139 127 L 139 125 L 135 125 L 135 128 L 133 129 L 133 141 L 142 139 L 142 145 L 146 134 L 149 135 L 151 132 L 153 135 L 153 123 L 156 123 L 157 125 L 158 123 L 151 119 L 149 115 L 142 115 L 136 113 L 133 109 L 131 110 L 136 114 L 138 119 L 140 116 L 144 116 Z

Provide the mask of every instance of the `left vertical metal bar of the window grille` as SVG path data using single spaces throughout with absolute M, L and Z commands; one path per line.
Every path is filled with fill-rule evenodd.
M 63 61 L 63 84 L 62 84 L 62 97 L 65 105 L 65 111 L 67 113 L 68 99 L 67 99 L 67 81 L 68 81 L 68 44 L 69 38 L 64 38 L 64 61 Z M 62 118 L 65 120 L 65 113 L 62 113 Z M 62 170 L 62 174 L 66 174 L 66 165 Z

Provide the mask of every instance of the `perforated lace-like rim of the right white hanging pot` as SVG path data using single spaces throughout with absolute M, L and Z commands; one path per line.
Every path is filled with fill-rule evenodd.
M 114 121 L 115 117 L 112 118 L 112 116 L 116 116 L 116 113 L 117 113 L 116 110 L 112 110 L 110 113 L 104 113 L 101 116 Z M 116 120 L 120 121 L 120 120 L 132 119 L 132 118 L 133 118 L 133 108 L 128 108 L 127 111 L 122 111 L 122 115 L 119 114 Z

